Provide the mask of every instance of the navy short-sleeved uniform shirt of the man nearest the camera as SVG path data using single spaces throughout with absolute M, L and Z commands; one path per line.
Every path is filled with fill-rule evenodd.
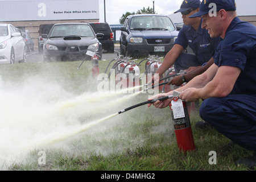
M 256 96 L 256 27 L 234 18 L 216 51 L 213 58 L 218 67 L 231 66 L 242 70 L 231 94 Z

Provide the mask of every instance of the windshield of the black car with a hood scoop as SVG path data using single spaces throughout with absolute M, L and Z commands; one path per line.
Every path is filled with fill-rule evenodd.
M 66 36 L 95 37 L 95 34 L 86 24 L 61 24 L 53 27 L 50 38 Z

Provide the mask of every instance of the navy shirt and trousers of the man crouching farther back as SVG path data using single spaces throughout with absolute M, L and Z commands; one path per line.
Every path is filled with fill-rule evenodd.
M 184 49 L 189 46 L 193 54 L 181 53 L 174 64 L 176 73 L 189 67 L 198 67 L 207 63 L 212 58 L 214 49 L 220 43 L 220 38 L 210 38 L 208 31 L 201 28 L 202 21 L 197 31 L 188 25 L 181 28 L 174 44 L 179 44 Z

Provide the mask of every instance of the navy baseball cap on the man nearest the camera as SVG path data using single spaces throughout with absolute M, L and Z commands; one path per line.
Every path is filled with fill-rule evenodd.
M 189 18 L 195 18 L 201 15 L 205 15 L 213 10 L 213 6 L 210 5 L 211 3 L 214 3 L 217 8 L 217 12 L 224 9 L 226 11 L 236 11 L 236 3 L 234 0 L 203 0 L 200 5 L 200 10 L 189 16 Z

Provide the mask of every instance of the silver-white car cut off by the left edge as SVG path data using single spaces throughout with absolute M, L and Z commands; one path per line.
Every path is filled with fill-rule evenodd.
M 26 63 L 26 44 L 11 24 L 0 23 L 0 64 Z

